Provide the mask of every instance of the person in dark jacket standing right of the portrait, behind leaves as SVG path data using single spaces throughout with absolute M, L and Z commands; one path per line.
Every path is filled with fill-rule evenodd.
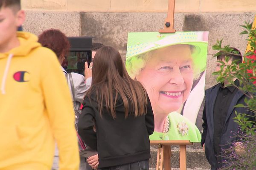
M 233 48 L 233 51 L 238 51 Z M 225 57 L 230 57 L 226 63 Z M 217 57 L 217 61 L 223 61 L 230 65 L 232 61 L 238 60 L 237 64 L 242 62 L 241 53 L 239 55 L 222 53 Z M 220 63 L 217 63 L 216 71 L 220 70 Z M 234 79 L 235 85 L 239 86 L 239 81 Z M 233 142 L 238 140 L 235 135 L 239 131 L 239 125 L 234 122 L 237 113 L 246 113 L 253 115 L 245 108 L 234 108 L 237 104 L 244 104 L 246 95 L 234 86 L 227 86 L 228 82 L 219 83 L 205 91 L 205 106 L 203 112 L 203 133 L 201 144 L 204 147 L 205 155 L 211 170 L 217 170 L 224 166 L 224 160 L 227 156 L 223 151 L 232 146 Z M 228 160 L 226 160 L 228 161 Z

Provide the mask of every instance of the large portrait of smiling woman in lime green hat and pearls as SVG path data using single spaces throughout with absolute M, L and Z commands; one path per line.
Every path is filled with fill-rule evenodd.
M 126 69 L 151 101 L 151 140 L 201 141 L 207 42 L 207 31 L 128 34 Z

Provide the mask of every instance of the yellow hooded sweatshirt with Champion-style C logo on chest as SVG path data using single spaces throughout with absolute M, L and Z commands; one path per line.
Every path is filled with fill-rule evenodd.
M 50 170 L 55 140 L 60 170 L 79 169 L 74 112 L 56 55 L 34 34 L 0 53 L 0 170 Z

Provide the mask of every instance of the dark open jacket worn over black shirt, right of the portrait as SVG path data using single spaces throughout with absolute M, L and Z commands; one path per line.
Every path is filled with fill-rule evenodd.
M 203 113 L 203 129 L 204 132 L 202 134 L 202 140 L 201 144 L 205 147 L 205 155 L 207 160 L 209 161 L 209 164 L 211 164 L 211 170 L 217 170 L 220 167 L 224 166 L 224 157 L 221 157 L 221 161 L 218 162 L 215 156 L 214 151 L 214 115 L 213 115 L 213 109 L 216 102 L 216 98 L 218 95 L 218 91 L 221 88 L 221 84 L 217 84 L 213 86 L 212 88 L 209 88 L 205 91 L 205 106 L 204 106 L 204 113 Z M 234 122 L 234 117 L 236 117 L 237 113 L 246 113 L 247 115 L 253 116 L 253 113 L 248 111 L 245 108 L 234 108 L 234 106 L 238 104 L 246 105 L 244 102 L 244 99 L 246 98 L 246 95 L 242 91 L 236 91 L 236 94 L 234 94 L 234 97 L 232 99 L 232 102 L 229 106 L 229 109 L 227 111 L 227 117 L 225 119 L 224 127 L 222 130 L 222 133 L 220 135 L 220 146 L 221 150 L 226 150 L 230 146 L 232 146 L 233 142 L 236 142 L 239 140 L 239 138 L 234 134 L 234 132 L 237 132 L 239 130 L 239 125 Z M 253 119 L 250 117 L 250 119 Z

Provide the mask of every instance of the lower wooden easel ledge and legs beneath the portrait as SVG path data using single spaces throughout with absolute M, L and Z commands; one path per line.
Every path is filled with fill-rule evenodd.
M 157 145 L 156 170 L 171 170 L 171 145 L 180 146 L 180 170 L 186 170 L 186 145 L 192 145 L 189 141 L 150 141 L 151 145 Z

